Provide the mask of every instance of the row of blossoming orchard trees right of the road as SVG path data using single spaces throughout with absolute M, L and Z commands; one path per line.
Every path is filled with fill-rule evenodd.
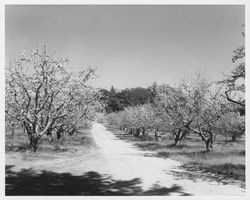
M 244 36 L 244 33 L 243 33 Z M 245 133 L 245 47 L 233 52 L 236 66 L 231 74 L 216 83 L 200 73 L 181 81 L 178 86 L 148 88 L 150 101 L 108 115 L 110 124 L 146 138 L 153 133 L 155 140 L 168 133 L 177 145 L 189 133 L 198 135 L 207 151 L 213 148 L 218 134 L 233 141 Z

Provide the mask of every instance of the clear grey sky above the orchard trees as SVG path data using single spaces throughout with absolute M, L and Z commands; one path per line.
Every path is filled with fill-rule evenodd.
M 76 69 L 97 68 L 97 87 L 173 84 L 197 70 L 233 68 L 244 6 L 6 6 L 6 63 L 47 43 Z

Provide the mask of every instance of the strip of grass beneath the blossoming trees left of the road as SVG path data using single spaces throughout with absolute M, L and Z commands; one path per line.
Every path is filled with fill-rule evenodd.
M 29 140 L 26 134 L 21 129 L 15 131 L 14 139 L 11 138 L 9 132 L 5 137 L 5 153 L 13 154 L 19 153 L 23 160 L 39 160 L 39 159 L 54 159 L 60 154 L 69 154 L 81 152 L 88 152 L 95 146 L 90 128 L 83 128 L 78 133 L 72 136 L 65 136 L 52 142 L 48 142 L 46 138 L 42 138 L 38 144 L 36 153 L 32 152 L 29 147 Z M 18 156 L 18 155 L 16 155 Z

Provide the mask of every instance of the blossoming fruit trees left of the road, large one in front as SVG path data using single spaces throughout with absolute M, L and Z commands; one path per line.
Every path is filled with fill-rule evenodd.
M 89 85 L 92 68 L 67 71 L 67 59 L 42 50 L 24 52 L 6 70 L 5 119 L 12 130 L 23 127 L 30 146 L 73 134 L 102 109 L 101 92 Z

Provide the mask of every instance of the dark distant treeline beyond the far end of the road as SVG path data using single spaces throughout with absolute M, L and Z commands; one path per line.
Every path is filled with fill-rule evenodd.
M 123 111 L 128 106 L 143 105 L 152 99 L 151 91 L 142 87 L 118 91 L 112 86 L 110 90 L 101 89 L 101 92 L 106 101 L 107 113 Z

